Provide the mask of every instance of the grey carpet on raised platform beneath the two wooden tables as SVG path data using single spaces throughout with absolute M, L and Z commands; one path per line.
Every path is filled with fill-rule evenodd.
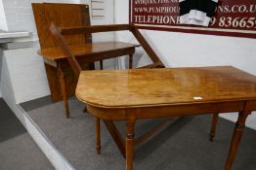
M 49 98 L 26 103 L 23 108 L 40 126 L 53 144 L 78 170 L 122 170 L 125 160 L 110 138 L 105 125 L 101 126 L 102 154 L 95 152 L 94 121 L 82 113 L 84 105 L 69 100 L 70 119 L 64 118 L 62 102 L 52 104 Z M 146 132 L 162 119 L 140 121 L 136 136 Z M 223 169 L 235 124 L 220 119 L 217 138 L 208 140 L 210 116 L 179 119 L 166 130 L 136 149 L 135 170 L 220 170 Z M 124 134 L 124 122 L 116 123 Z M 256 169 L 256 131 L 246 128 L 234 170 Z

